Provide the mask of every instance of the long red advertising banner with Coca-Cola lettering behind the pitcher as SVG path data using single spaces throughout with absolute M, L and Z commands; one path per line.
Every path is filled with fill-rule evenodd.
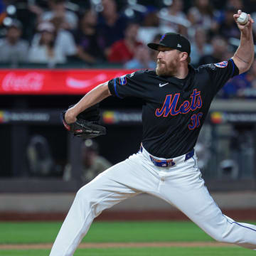
M 0 70 L 0 95 L 82 95 L 134 70 Z

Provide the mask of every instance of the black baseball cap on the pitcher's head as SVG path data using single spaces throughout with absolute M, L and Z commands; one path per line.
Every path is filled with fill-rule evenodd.
M 159 46 L 165 46 L 182 52 L 191 53 L 191 44 L 185 36 L 179 33 L 165 33 L 159 43 L 148 43 L 149 48 L 158 50 Z

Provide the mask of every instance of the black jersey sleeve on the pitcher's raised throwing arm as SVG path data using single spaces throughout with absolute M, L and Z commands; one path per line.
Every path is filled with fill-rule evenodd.
M 235 75 L 239 75 L 238 67 L 235 65 L 232 58 L 230 58 L 228 61 L 211 63 L 208 65 L 203 65 L 202 67 L 206 68 L 208 73 L 210 73 L 210 80 L 212 81 L 215 94 L 230 78 L 233 78 Z

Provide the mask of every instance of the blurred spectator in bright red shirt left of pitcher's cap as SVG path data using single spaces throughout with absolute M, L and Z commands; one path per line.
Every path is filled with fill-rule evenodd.
M 132 60 L 137 47 L 142 45 L 137 41 L 138 29 L 139 24 L 129 23 L 124 32 L 124 39 L 117 41 L 110 48 L 110 55 L 108 56 L 110 62 L 125 63 Z

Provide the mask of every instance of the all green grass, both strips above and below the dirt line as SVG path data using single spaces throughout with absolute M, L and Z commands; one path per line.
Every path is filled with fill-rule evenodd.
M 0 222 L 1 244 L 53 242 L 60 222 Z M 95 222 L 83 242 L 212 241 L 191 222 Z M 0 256 L 48 256 L 50 250 L 0 250 Z M 144 247 L 78 249 L 75 256 L 250 256 L 240 247 Z

